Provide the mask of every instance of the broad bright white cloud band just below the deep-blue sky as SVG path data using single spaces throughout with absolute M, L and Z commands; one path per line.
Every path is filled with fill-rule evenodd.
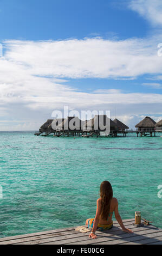
M 30 75 L 57 78 L 123 78 L 161 74 L 158 38 L 119 41 L 101 38 L 64 41 L 7 41 L 3 64 Z M 5 68 L 4 68 L 5 69 Z M 22 74 L 23 76 L 23 74 Z

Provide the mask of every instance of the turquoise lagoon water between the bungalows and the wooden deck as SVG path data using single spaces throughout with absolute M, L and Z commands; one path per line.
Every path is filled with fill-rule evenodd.
M 103 180 L 122 218 L 134 211 L 162 228 L 162 138 L 64 138 L 0 132 L 0 236 L 85 224 Z

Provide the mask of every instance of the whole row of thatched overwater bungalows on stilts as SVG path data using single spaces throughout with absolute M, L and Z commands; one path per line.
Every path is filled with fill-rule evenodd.
M 107 127 L 106 127 L 107 125 Z M 156 132 L 162 132 L 162 120 L 157 124 L 150 118 L 145 117 L 137 125 L 136 131 L 128 131 L 129 127 L 122 123 L 118 119 L 110 119 L 107 115 L 95 115 L 90 120 L 82 121 L 78 117 L 67 117 L 58 119 L 48 119 L 39 129 L 39 132 L 35 132 L 35 135 L 48 136 L 50 133 L 54 133 L 54 136 L 80 136 L 90 137 L 93 135 L 98 136 L 114 136 L 118 133 L 122 133 L 123 136 L 127 136 L 127 133 L 137 133 L 137 136 L 154 136 Z

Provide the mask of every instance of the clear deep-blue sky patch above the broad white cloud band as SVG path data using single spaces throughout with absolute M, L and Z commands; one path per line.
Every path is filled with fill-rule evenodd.
M 107 0 L 3 0 L 1 40 L 82 39 L 116 35 L 120 39 L 144 37 L 147 22 L 121 1 Z

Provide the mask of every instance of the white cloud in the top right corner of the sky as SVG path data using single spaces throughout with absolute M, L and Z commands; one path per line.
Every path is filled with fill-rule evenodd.
M 162 25 L 161 0 L 131 0 L 128 1 L 128 6 L 150 21 L 153 26 Z

